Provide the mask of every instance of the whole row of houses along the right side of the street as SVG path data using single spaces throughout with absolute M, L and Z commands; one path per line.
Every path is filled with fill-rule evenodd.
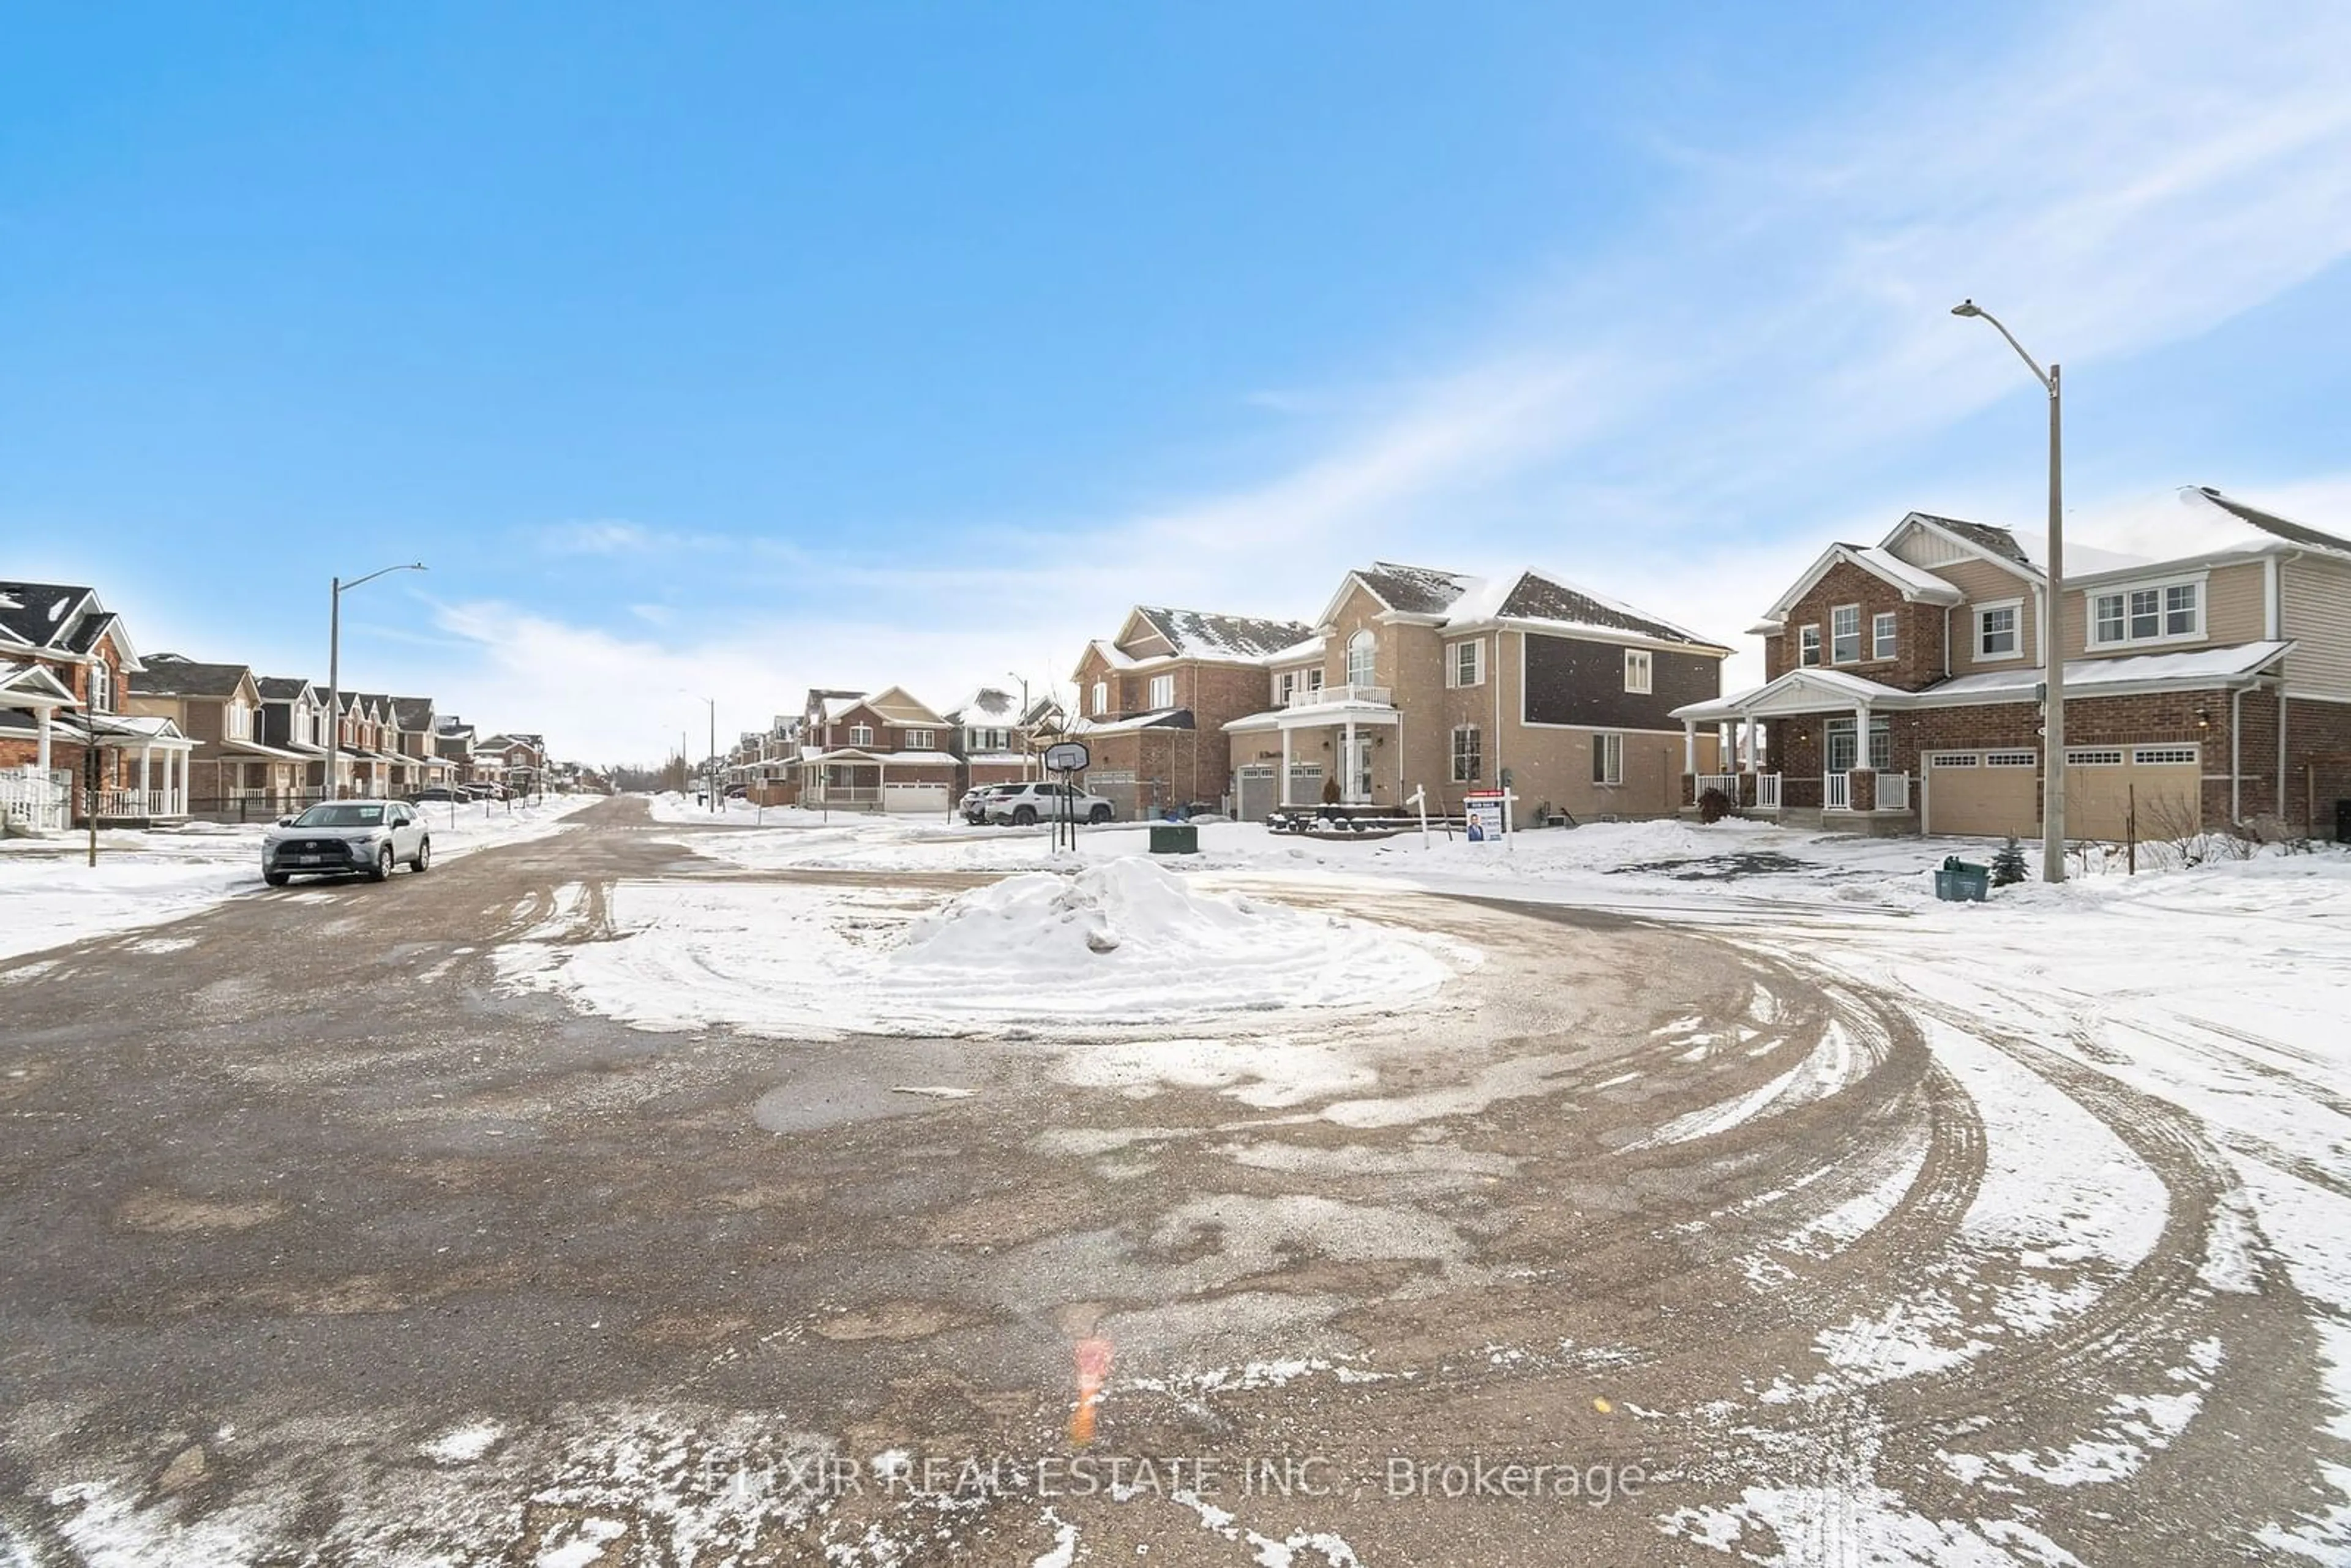
M 1876 543 L 1827 543 L 1747 628 L 1766 682 L 1728 696 L 1728 639 L 1566 576 L 1371 562 L 1312 621 L 1138 604 L 1086 644 L 1067 703 L 809 691 L 729 769 L 776 804 L 931 811 L 1039 776 L 1041 748 L 1077 738 L 1086 788 L 1121 816 L 1331 797 L 1434 813 L 1507 788 L 1526 816 L 1704 804 L 2031 837 L 2052 646 L 2069 835 L 2332 830 L 2351 799 L 2351 541 L 2219 491 L 2193 501 L 2210 548 L 2069 545 L 2055 607 L 2001 527 L 1911 512 Z

